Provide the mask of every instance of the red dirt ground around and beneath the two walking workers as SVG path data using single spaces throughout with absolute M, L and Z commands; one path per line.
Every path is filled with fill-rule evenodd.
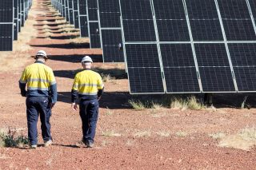
M 245 151 L 222 148 L 209 135 L 217 132 L 234 134 L 253 127 L 256 109 L 235 109 L 223 106 L 216 110 L 202 109 L 131 109 L 126 77 L 105 83 L 94 148 L 78 144 L 82 130 L 78 112 L 70 107 L 70 89 L 74 74 L 81 69 L 85 54 L 93 57 L 94 67 L 107 72 L 121 69 L 122 64 L 103 64 L 101 49 L 72 46 L 70 34 L 52 33 L 46 38 L 43 21 L 54 22 L 46 1 L 34 1 L 31 12 L 37 16 L 38 38 L 31 40 L 32 50 L 24 55 L 24 63 L 0 72 L 0 128 L 16 129 L 26 135 L 26 105 L 18 89 L 22 69 L 34 62 L 38 49 L 50 56 L 47 65 L 54 69 L 58 82 L 58 103 L 51 117 L 54 144 L 37 149 L 0 148 L 0 169 L 256 169 L 256 149 Z M 46 15 L 45 15 L 46 14 Z M 52 29 L 53 27 L 50 27 Z M 26 29 L 26 28 L 25 28 Z M 58 27 L 55 26 L 55 32 Z M 40 32 L 40 34 L 39 34 Z M 62 39 L 57 39 L 60 37 Z M 0 53 L 1 54 L 1 53 Z M 13 52 L 16 55 L 17 52 Z M 26 62 L 28 61 L 28 62 Z M 98 62 L 97 62 L 98 61 Z M 40 123 L 38 123 L 40 129 Z M 39 144 L 42 144 L 41 132 Z M 177 135 L 186 132 L 186 135 Z

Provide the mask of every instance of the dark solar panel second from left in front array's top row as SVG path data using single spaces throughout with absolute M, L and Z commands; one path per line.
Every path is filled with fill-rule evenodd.
M 182 1 L 154 0 L 154 13 L 160 42 L 190 41 Z

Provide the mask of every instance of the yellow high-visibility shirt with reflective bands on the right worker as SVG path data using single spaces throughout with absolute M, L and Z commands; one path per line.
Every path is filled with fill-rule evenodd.
M 79 95 L 97 96 L 98 89 L 103 89 L 102 77 L 90 69 L 79 72 L 74 77 L 72 90 L 78 91 Z

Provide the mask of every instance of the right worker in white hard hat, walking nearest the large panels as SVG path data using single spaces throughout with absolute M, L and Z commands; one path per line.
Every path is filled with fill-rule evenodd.
M 88 148 L 94 145 L 94 136 L 98 121 L 98 100 L 101 98 L 104 85 L 102 77 L 91 70 L 93 63 L 89 56 L 82 58 L 83 71 L 76 74 L 71 91 L 72 109 L 77 110 L 76 100 L 79 99 L 79 113 L 82 120 L 82 142 Z

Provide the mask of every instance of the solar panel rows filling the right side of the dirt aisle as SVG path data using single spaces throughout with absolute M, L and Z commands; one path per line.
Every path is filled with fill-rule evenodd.
M 130 93 L 256 91 L 254 0 L 79 0 L 78 6 L 90 47 L 102 47 L 105 62 L 126 61 Z

